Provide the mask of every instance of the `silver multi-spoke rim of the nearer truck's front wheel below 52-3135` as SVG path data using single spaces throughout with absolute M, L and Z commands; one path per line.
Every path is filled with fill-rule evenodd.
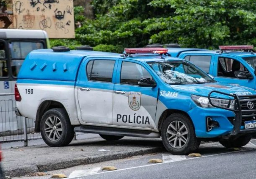
M 166 137 L 173 148 L 180 149 L 188 142 L 188 129 L 183 122 L 173 121 L 167 128 Z

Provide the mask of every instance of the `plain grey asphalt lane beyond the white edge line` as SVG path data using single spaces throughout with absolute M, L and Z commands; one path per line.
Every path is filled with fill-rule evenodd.
M 241 179 L 256 178 L 255 151 L 148 165 L 81 177 L 83 179 Z

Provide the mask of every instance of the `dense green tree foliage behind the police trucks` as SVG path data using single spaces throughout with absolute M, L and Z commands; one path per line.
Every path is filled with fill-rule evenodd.
M 95 19 L 80 17 L 83 9 L 76 8 L 82 27 L 66 44 L 120 52 L 116 46 L 179 43 L 214 49 L 256 43 L 255 0 L 93 0 L 92 5 Z

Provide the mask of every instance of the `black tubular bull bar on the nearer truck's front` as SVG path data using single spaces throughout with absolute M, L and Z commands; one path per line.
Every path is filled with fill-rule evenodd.
M 223 107 L 223 106 L 218 106 L 212 103 L 212 99 L 211 99 L 211 94 L 212 93 L 219 93 L 222 95 L 226 95 L 226 96 L 231 96 L 234 98 L 234 109 L 229 108 L 229 107 Z M 223 99 L 223 98 L 220 98 Z M 236 95 L 236 94 L 228 94 L 228 93 L 223 93 L 220 91 L 211 91 L 208 95 L 208 100 L 209 103 L 217 108 L 221 108 L 221 109 L 226 109 L 229 111 L 233 111 L 235 112 L 235 118 L 233 121 L 233 130 L 231 131 L 230 135 L 237 135 L 238 133 L 256 133 L 256 128 L 253 129 L 243 129 L 241 130 L 241 123 L 242 123 L 242 118 L 246 118 L 246 117 L 253 117 L 252 120 L 254 120 L 254 118 L 256 117 L 256 108 L 252 108 L 252 109 L 243 109 L 242 105 L 247 104 L 247 102 L 255 102 L 256 103 L 256 95 Z M 223 100 L 227 100 L 227 99 L 223 99 Z M 229 100 L 231 101 L 231 100 Z M 254 106 L 256 107 L 256 106 Z M 255 118 L 256 120 L 256 118 Z

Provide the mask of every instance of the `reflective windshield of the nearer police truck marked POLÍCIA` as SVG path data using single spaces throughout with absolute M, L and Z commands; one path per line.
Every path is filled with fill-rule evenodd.
M 168 84 L 215 82 L 214 79 L 187 61 L 154 61 L 148 62 L 148 64 Z

